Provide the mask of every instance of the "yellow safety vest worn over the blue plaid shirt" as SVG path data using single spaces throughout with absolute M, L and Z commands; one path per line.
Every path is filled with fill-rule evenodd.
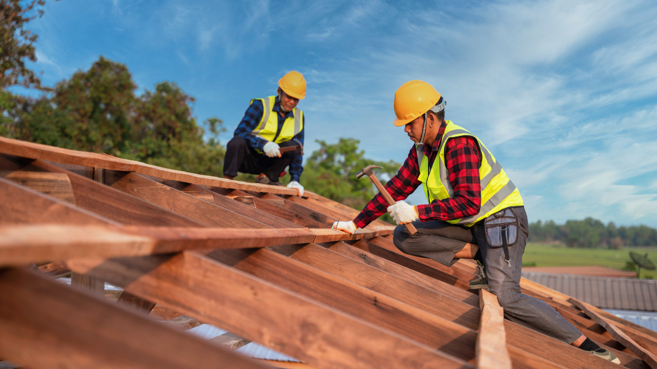
M 274 141 L 279 144 L 284 141 L 290 141 L 297 133 L 304 129 L 304 112 L 294 108 L 294 110 L 292 110 L 292 117 L 285 119 L 281 133 L 279 133 L 279 137 L 274 139 L 276 136 L 276 131 L 279 127 L 279 113 L 273 111 L 276 97 L 270 96 L 258 99 L 254 98 L 251 100 L 251 104 L 253 104 L 255 100 L 260 100 L 260 102 L 262 102 L 264 110 L 262 118 L 260 119 L 260 123 L 258 123 L 258 127 L 251 131 L 252 135 L 256 135 L 261 139 Z

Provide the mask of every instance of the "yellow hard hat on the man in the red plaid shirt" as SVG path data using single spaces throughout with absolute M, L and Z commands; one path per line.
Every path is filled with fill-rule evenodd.
M 424 81 L 415 79 L 401 85 L 395 92 L 395 114 L 397 127 L 413 121 L 428 112 L 440 100 L 440 93 Z

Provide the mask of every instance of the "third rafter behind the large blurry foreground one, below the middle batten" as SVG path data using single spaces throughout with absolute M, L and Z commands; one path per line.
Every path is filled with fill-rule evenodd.
M 403 267 L 397 263 L 393 263 L 392 261 L 384 259 L 383 257 L 378 257 L 367 251 L 355 248 L 350 244 L 346 244 L 344 242 L 335 242 L 321 244 L 320 246 L 345 255 L 346 257 L 350 257 L 351 259 L 359 261 L 360 263 L 370 265 L 371 267 L 379 269 L 380 271 L 394 274 L 400 278 L 403 278 L 404 280 L 439 292 L 442 295 L 449 295 L 451 298 L 457 299 L 458 301 L 466 303 L 470 306 L 479 307 L 479 298 L 472 292 L 464 291 L 461 288 L 447 284 L 442 280 L 431 278 L 426 274 L 413 271 L 412 269 Z

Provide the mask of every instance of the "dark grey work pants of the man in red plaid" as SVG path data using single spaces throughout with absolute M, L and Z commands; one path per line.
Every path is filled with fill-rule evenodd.
M 510 267 L 505 261 L 503 248 L 492 248 L 486 240 L 484 222 L 490 217 L 472 227 L 445 221 L 422 223 L 418 220 L 413 222 L 417 228 L 417 233 L 413 235 L 399 225 L 395 228 L 394 243 L 404 253 L 428 257 L 447 267 L 456 263 L 454 255 L 463 249 L 466 242 L 477 244 L 484 259 L 490 292 L 497 296 L 505 317 L 570 344 L 581 336 L 581 332 L 543 301 L 520 292 L 522 254 L 529 229 L 524 207 L 512 209 L 518 219 L 518 232 L 516 242 L 509 246 Z

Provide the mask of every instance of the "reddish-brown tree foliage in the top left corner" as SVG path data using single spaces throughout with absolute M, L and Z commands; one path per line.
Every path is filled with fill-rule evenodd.
M 25 66 L 26 60 L 37 60 L 38 36 L 24 26 L 43 15 L 43 5 L 44 0 L 0 0 L 0 89 L 14 85 L 41 89 L 39 77 Z

